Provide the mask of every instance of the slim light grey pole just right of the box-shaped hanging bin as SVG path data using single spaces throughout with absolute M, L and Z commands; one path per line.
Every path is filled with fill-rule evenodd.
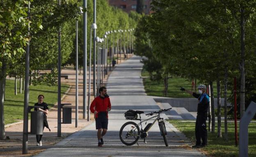
M 75 21 L 75 128 L 78 127 L 78 20 Z

